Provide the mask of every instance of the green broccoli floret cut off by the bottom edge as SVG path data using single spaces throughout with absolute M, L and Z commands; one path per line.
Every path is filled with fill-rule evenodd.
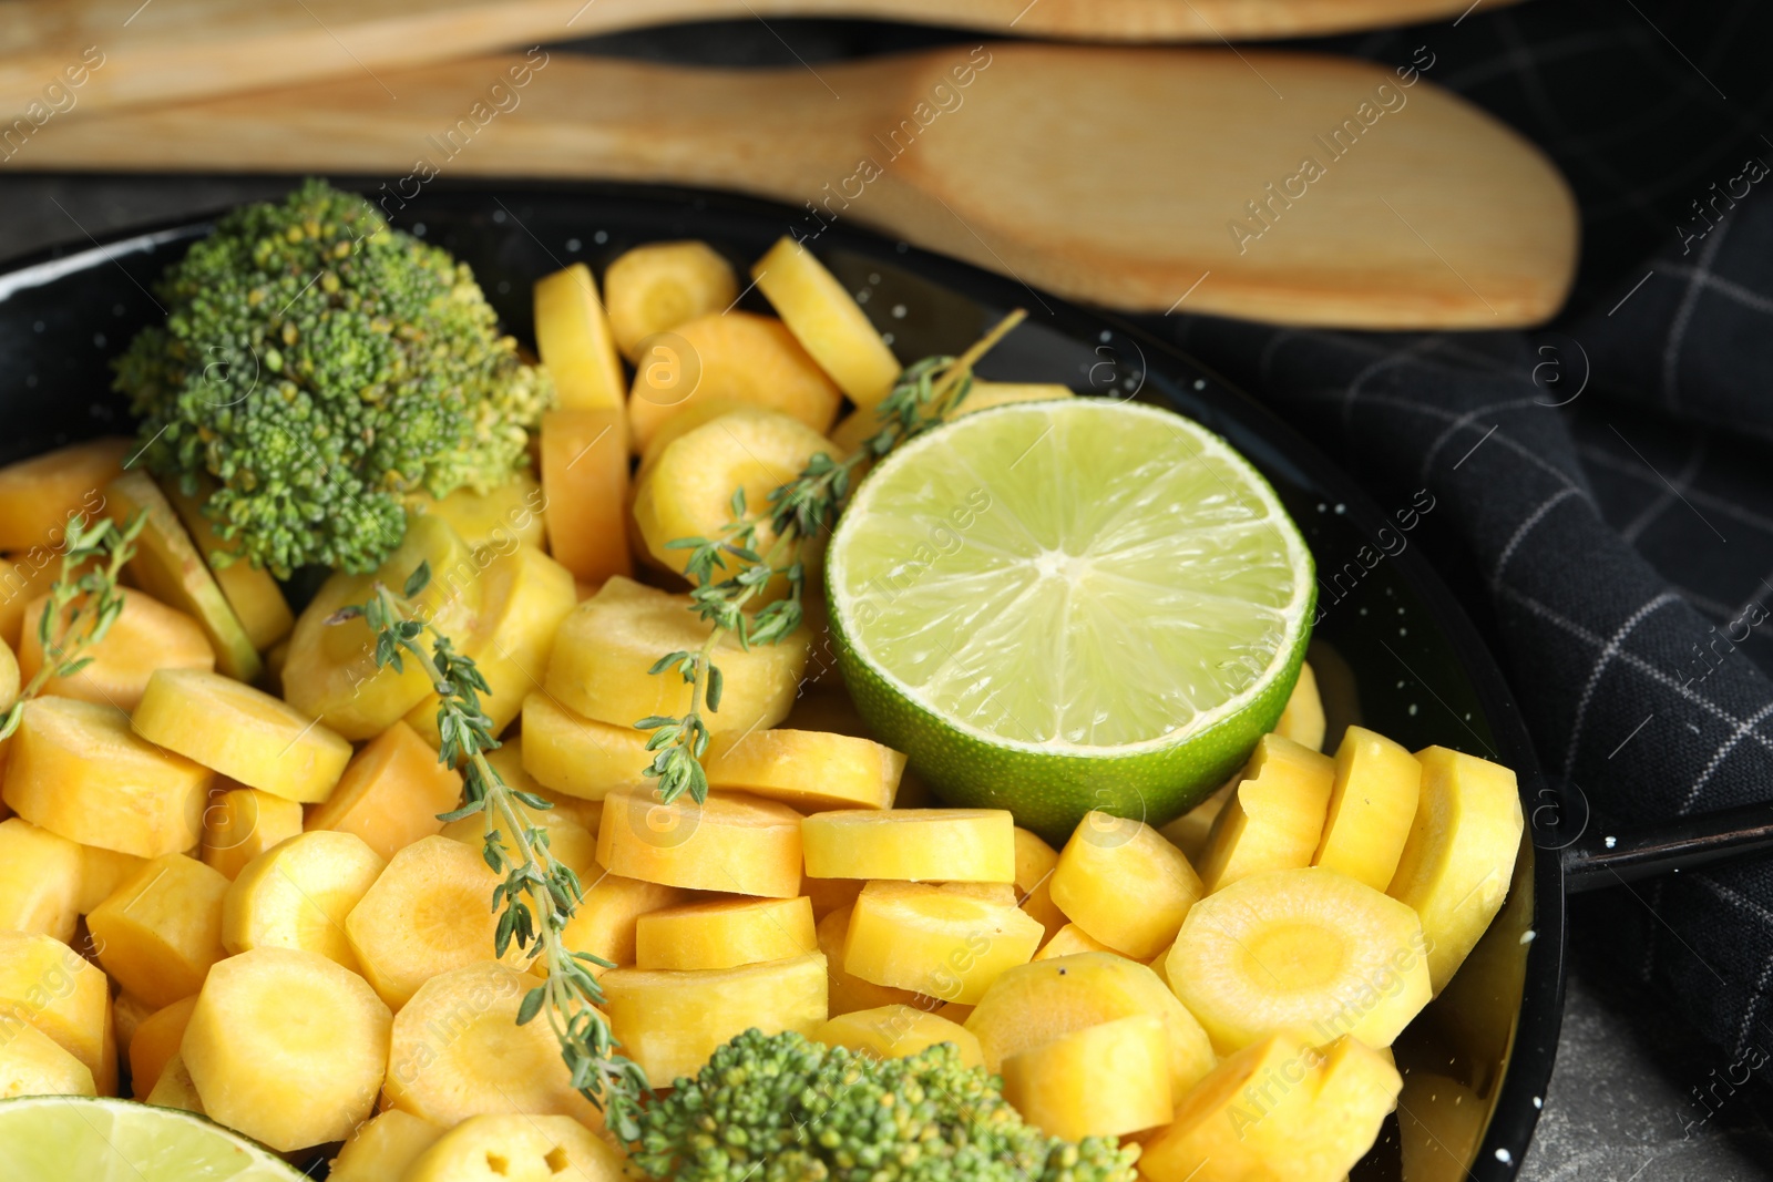
M 679 1182 L 1131 1182 L 1136 1147 L 1060 1141 L 952 1044 L 878 1060 L 750 1030 L 640 1116 L 629 1171 Z

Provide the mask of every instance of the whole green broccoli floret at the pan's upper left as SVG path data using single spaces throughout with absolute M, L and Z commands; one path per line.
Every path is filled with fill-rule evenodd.
M 402 494 L 504 484 L 553 402 L 466 264 L 323 181 L 229 213 L 156 291 L 115 383 L 147 466 L 213 486 L 216 533 L 278 576 L 374 569 Z

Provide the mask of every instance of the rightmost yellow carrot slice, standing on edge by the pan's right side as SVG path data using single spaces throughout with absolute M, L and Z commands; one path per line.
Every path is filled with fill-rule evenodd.
M 1420 803 L 1385 893 L 1422 916 L 1429 980 L 1440 992 L 1509 895 L 1521 849 L 1521 796 L 1512 771 L 1475 755 L 1434 746 L 1417 751 L 1417 760 Z

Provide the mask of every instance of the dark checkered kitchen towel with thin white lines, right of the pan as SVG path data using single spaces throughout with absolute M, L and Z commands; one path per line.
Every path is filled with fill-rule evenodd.
M 1473 7 L 1332 44 L 1394 64 L 1427 46 L 1434 80 L 1557 159 L 1585 227 L 1555 331 L 1158 328 L 1381 503 L 1433 489 L 1431 544 L 1470 567 L 1546 773 L 1597 813 L 1773 799 L 1773 14 Z M 1576 941 L 1769 1060 L 1773 859 L 1615 886 L 1583 900 Z

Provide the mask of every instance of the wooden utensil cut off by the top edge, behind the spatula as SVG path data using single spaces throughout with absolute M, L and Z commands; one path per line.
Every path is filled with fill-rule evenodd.
M 1489 7 L 1512 0 L 1491 0 Z M 1080 41 L 1300 37 L 1452 16 L 1470 0 L 9 0 L 0 113 L 96 50 L 85 112 L 447 62 L 690 19 L 865 16 Z M 99 60 L 89 58 L 89 60 Z M 66 90 L 66 82 L 62 83 Z M 59 99 L 66 101 L 66 99 Z

